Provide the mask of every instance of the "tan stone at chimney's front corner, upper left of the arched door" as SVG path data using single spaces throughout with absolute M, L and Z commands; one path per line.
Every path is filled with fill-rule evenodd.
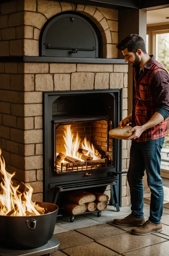
M 52 3 L 52 2 L 51 2 Z M 32 13 L 30 11 L 24 12 L 24 24 L 33 26 L 41 29 L 43 25 L 46 23 L 47 19 L 41 13 Z

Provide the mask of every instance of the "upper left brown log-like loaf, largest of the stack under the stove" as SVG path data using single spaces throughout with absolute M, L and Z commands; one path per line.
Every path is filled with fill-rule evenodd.
M 88 202 L 93 202 L 96 200 L 96 196 L 84 190 L 78 190 L 69 192 L 67 195 L 67 200 L 72 203 L 81 205 Z

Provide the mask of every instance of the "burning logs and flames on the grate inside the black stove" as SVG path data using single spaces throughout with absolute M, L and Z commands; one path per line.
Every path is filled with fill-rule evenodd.
M 81 139 L 78 132 L 74 137 L 71 125 L 64 126 L 63 138 L 66 152 L 65 154 L 56 152 L 57 172 L 80 171 L 107 166 L 107 159 L 102 158 L 99 151 L 86 137 Z

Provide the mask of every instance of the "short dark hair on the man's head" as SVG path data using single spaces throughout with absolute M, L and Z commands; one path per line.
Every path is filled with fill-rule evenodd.
M 120 51 L 123 51 L 126 48 L 128 49 L 128 52 L 136 53 L 137 50 L 140 49 L 143 53 L 146 53 L 145 42 L 143 38 L 137 34 L 128 35 L 117 45 L 117 49 Z

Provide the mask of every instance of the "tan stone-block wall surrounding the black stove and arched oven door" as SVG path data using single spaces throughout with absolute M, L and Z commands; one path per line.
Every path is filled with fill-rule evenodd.
M 0 56 L 38 56 L 40 30 L 53 15 L 76 10 L 90 17 L 103 37 L 103 57 L 117 58 L 118 11 L 44 0 L 1 4 Z M 68 63 L 0 63 L 0 143 L 6 169 L 16 172 L 14 184 L 30 183 L 33 200 L 42 201 L 42 92 L 123 89 L 127 116 L 128 65 Z M 122 168 L 128 167 L 123 141 Z M 110 195 L 109 187 L 106 193 Z M 122 176 L 122 206 L 129 204 Z

